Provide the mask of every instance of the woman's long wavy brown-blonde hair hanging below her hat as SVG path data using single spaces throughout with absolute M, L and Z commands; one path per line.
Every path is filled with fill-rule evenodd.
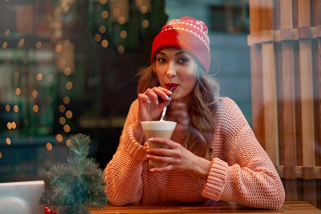
M 189 126 L 185 131 L 183 146 L 199 157 L 212 160 L 214 154 L 209 147 L 214 134 L 215 121 L 213 114 L 218 107 L 217 98 L 219 85 L 213 75 L 209 75 L 196 63 L 197 82 L 191 99 Z M 147 88 L 160 86 L 155 72 L 155 62 L 146 68 L 141 68 L 138 77 L 137 94 L 144 93 Z

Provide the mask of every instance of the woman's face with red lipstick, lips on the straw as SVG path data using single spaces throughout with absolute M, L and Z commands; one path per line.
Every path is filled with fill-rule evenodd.
M 172 100 L 185 100 L 191 98 L 197 80 L 196 62 L 187 52 L 166 48 L 156 55 L 156 74 L 160 86 L 171 89 L 173 86 Z

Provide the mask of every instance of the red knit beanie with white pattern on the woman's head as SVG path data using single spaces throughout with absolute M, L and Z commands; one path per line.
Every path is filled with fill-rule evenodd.
M 204 71 L 209 72 L 210 38 L 204 22 L 184 16 L 166 24 L 154 38 L 151 63 L 154 62 L 157 52 L 164 48 L 179 48 L 188 51 Z

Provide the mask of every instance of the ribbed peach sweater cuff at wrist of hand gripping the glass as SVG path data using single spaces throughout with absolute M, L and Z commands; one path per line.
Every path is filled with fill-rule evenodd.
M 203 197 L 218 201 L 226 185 L 228 164 L 214 158 L 208 174 L 207 182 L 203 189 Z

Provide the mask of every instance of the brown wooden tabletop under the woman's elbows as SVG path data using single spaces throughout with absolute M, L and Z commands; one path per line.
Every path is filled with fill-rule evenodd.
M 104 209 L 90 210 L 91 214 L 126 214 L 126 213 L 291 213 L 321 214 L 321 210 L 303 201 L 285 202 L 279 210 L 254 209 L 228 202 L 212 202 L 209 204 L 131 204 L 125 206 L 107 205 Z

